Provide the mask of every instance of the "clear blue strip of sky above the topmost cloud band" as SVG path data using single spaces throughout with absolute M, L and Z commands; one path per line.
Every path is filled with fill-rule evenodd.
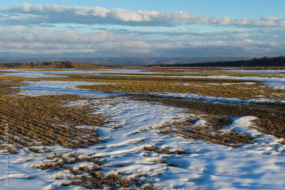
M 48 1 L 40 1 L 40 0 L 16 0 L 18 4 L 23 2 L 30 3 L 31 5 L 62 5 L 62 2 L 66 6 L 81 6 L 81 7 L 105 7 L 106 4 L 110 3 L 111 0 L 94 0 L 94 1 L 87 1 L 87 0 L 48 0 Z M 111 9 L 120 8 L 120 9 L 127 9 L 130 11 L 137 11 L 137 10 L 146 10 L 146 11 L 188 11 L 190 14 L 196 13 L 197 10 L 201 9 L 200 6 L 205 5 L 205 3 L 210 3 L 211 7 L 204 12 L 206 16 L 213 16 L 213 17 L 220 17 L 223 15 L 227 15 L 231 18 L 238 19 L 238 18 L 248 18 L 254 19 L 258 16 L 266 16 L 266 15 L 274 15 L 279 18 L 285 17 L 284 15 L 284 7 L 285 1 L 280 0 L 264 0 L 259 5 L 257 9 L 254 11 L 251 10 L 250 6 L 253 6 L 257 0 L 239 0 L 239 1 L 227 1 L 227 0 L 166 0 L 162 6 L 156 6 L 156 3 L 159 3 L 159 0 L 144 0 L 144 1 L 131 1 L 131 0 L 114 0 L 115 3 L 112 5 Z M 11 0 L 1 0 L 0 7 L 7 7 L 11 3 Z

